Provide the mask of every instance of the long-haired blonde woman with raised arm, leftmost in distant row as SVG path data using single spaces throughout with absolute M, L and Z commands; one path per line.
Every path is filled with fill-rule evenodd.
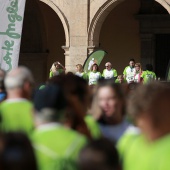
M 60 74 L 64 74 L 65 70 L 66 68 L 60 62 L 56 61 L 51 66 L 49 78 Z

